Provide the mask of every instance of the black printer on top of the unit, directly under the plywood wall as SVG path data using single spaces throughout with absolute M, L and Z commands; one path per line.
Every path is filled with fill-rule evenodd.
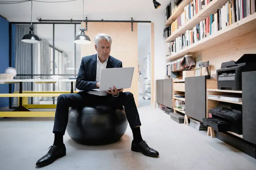
M 239 60 L 221 63 L 217 72 L 219 90 L 242 90 L 242 72 L 256 71 L 256 54 L 244 54 Z

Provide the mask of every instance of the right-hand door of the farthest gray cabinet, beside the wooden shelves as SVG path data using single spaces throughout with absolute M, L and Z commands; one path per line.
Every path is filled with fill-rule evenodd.
M 172 108 L 172 79 L 163 80 L 163 105 Z

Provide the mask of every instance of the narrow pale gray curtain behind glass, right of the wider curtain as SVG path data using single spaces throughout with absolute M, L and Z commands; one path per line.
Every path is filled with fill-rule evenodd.
M 50 74 L 50 50 L 49 42 L 46 39 L 41 39 L 41 74 Z M 41 79 L 50 79 L 50 76 L 41 76 Z M 41 84 L 42 91 L 51 90 L 52 84 Z M 41 100 L 50 100 L 50 97 L 42 97 Z

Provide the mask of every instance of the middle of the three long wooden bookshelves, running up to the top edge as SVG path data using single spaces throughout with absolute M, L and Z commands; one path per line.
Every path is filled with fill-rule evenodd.
M 201 11 L 197 13 L 194 17 L 192 17 L 183 27 L 180 27 L 178 30 L 172 33 L 165 42 L 174 41 L 175 38 L 180 36 L 181 34 L 186 33 L 186 30 L 192 30 L 198 23 L 202 20 L 209 17 L 211 14 L 215 13 L 217 9 L 220 9 L 228 0 L 213 0 L 207 6 L 205 6 Z

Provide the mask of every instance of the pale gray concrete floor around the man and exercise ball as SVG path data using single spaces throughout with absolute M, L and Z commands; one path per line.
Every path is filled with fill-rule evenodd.
M 131 152 L 132 132 L 105 146 L 83 146 L 64 136 L 67 155 L 45 170 L 255 170 L 256 159 L 206 132 L 178 124 L 163 111 L 139 108 L 142 137 L 159 158 Z M 0 119 L 0 170 L 32 170 L 53 143 L 52 118 Z

